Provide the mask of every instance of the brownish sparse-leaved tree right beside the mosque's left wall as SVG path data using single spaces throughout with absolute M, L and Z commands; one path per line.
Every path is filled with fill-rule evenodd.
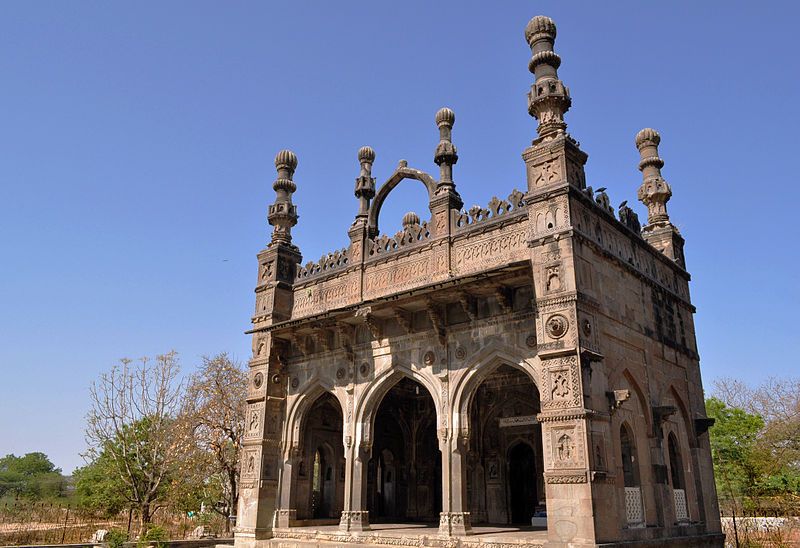
M 186 389 L 181 422 L 205 463 L 205 486 L 218 486 L 214 511 L 227 518 L 239 500 L 239 453 L 245 429 L 247 374 L 241 366 L 219 354 L 204 357 Z M 205 455 L 207 458 L 203 458 Z

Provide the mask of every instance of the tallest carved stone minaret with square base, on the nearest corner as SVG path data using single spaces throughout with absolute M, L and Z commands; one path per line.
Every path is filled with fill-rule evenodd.
M 587 155 L 567 134 L 564 122 L 572 99 L 569 88 L 558 78 L 561 58 L 553 51 L 555 39 L 556 24 L 549 17 L 538 15 L 525 27 L 525 40 L 531 48 L 528 70 L 535 77 L 528 93 L 528 114 L 538 121 L 538 137 L 522 154 L 528 167 L 529 198 L 568 185 L 586 186 L 583 165 Z

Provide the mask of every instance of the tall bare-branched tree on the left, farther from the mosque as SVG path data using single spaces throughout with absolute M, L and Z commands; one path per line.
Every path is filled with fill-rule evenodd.
M 167 488 L 167 476 L 178 453 L 171 434 L 183 383 L 176 352 L 120 360 L 90 388 L 87 415 L 89 456 L 109 463 L 124 487 L 121 491 L 139 511 L 146 529 Z

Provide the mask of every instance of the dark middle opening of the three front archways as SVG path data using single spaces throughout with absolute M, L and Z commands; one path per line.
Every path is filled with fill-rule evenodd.
M 367 466 L 370 522 L 438 522 L 441 462 L 433 398 L 424 386 L 403 378 L 375 415 Z

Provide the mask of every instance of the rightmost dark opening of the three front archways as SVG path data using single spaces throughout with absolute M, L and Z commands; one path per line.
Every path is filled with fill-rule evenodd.
M 522 371 L 501 365 L 470 404 L 467 500 L 472 523 L 531 525 L 546 510 L 539 390 Z

